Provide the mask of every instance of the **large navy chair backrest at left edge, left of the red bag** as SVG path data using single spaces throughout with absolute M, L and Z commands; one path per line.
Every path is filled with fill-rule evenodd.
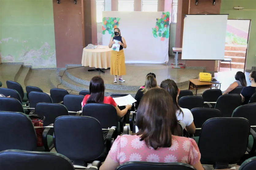
M 0 111 L 0 151 L 36 150 L 36 132 L 30 118 L 19 112 Z

